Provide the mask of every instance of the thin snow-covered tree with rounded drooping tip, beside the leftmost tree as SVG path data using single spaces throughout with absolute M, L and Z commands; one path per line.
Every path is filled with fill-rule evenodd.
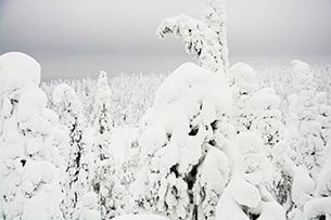
M 79 219 L 78 202 L 90 190 L 90 151 L 84 143 L 86 121 L 81 103 L 67 85 L 59 85 L 53 91 L 53 103 L 61 106 L 60 118 L 65 121 L 69 133 L 69 152 L 66 158 L 64 192 L 61 208 L 65 219 Z

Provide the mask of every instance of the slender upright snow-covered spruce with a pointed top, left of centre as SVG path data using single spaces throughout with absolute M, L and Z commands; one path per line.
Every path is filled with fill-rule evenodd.
M 125 206 L 128 205 L 128 194 L 119 180 L 122 164 L 116 160 L 112 151 L 112 147 L 118 146 L 112 145 L 111 95 L 106 73 L 101 72 L 96 92 L 94 132 L 91 141 L 96 167 L 91 182 L 98 196 L 98 207 L 102 219 L 125 213 Z

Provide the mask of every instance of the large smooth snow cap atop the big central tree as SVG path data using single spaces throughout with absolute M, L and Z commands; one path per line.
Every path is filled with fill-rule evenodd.
M 155 108 L 163 109 L 165 105 L 175 102 L 183 102 L 182 104 L 188 107 L 194 106 L 195 108 L 191 109 L 193 112 L 199 111 L 199 106 L 196 106 L 199 103 L 206 103 L 208 106 L 215 104 L 219 111 L 228 114 L 232 107 L 232 94 L 222 76 L 203 69 L 193 63 L 184 63 L 158 88 Z M 207 106 L 203 107 L 202 112 L 206 108 Z

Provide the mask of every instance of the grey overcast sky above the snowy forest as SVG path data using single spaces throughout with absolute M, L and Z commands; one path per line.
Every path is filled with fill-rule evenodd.
M 0 0 L 0 54 L 21 51 L 42 78 L 168 73 L 187 55 L 160 40 L 163 18 L 201 17 L 204 0 Z M 226 0 L 230 63 L 331 63 L 331 0 Z

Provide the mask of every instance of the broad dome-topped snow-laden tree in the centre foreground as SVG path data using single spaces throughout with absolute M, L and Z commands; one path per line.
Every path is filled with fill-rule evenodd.
M 138 212 L 215 218 L 234 165 L 231 107 L 225 77 L 194 64 L 162 83 L 139 139 L 142 168 L 130 189 Z

